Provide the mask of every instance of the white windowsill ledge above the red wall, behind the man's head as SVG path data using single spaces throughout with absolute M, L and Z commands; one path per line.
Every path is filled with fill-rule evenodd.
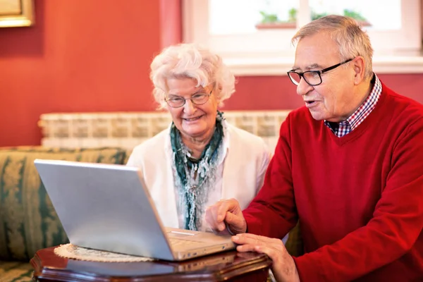
M 293 57 L 223 59 L 237 76 L 286 75 Z M 423 56 L 374 56 L 373 71 L 379 73 L 423 73 Z

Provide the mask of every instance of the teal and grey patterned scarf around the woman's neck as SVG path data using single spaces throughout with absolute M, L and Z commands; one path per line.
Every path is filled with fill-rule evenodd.
M 190 151 L 183 144 L 179 130 L 174 123 L 171 125 L 176 192 L 180 211 L 185 219 L 185 229 L 197 231 L 200 228 L 209 190 L 214 188 L 217 160 L 223 140 L 222 120 L 223 114 L 218 111 L 212 139 L 197 160 L 190 158 Z

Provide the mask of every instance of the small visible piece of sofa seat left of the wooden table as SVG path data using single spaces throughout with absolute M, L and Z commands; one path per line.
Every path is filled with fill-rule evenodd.
M 32 266 L 28 262 L 2 262 L 0 261 L 1 282 L 32 281 Z

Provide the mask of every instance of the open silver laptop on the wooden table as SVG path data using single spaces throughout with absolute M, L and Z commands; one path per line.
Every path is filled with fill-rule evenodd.
M 230 235 L 164 227 L 139 168 L 34 161 L 71 244 L 182 261 L 233 250 Z

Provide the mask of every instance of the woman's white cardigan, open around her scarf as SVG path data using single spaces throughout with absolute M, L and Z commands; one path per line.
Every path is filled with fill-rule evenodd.
M 214 198 L 217 197 L 214 202 L 235 198 L 240 202 L 241 209 L 245 209 L 262 188 L 271 154 L 261 137 L 228 123 L 226 126 L 223 137 L 224 159 L 217 168 L 220 177 L 216 178 L 216 186 L 221 186 L 216 187 L 220 195 L 214 195 Z M 183 228 L 178 219 L 172 157 L 169 126 L 151 139 L 137 145 L 127 165 L 142 169 L 145 184 L 164 226 Z M 209 230 L 204 218 L 202 220 L 202 231 Z

